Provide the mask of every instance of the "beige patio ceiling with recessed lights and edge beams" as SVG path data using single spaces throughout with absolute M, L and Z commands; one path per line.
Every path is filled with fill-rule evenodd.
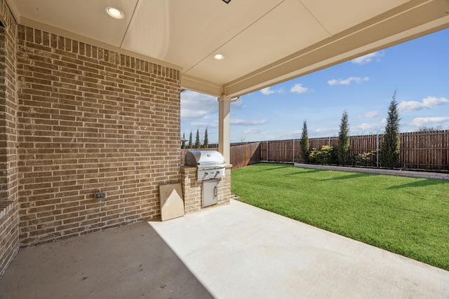
M 22 25 L 179 69 L 182 88 L 230 97 L 449 27 L 448 0 L 7 2 Z

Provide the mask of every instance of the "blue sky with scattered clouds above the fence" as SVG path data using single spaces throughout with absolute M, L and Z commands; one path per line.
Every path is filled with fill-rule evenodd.
M 349 134 L 384 132 L 396 90 L 401 132 L 449 130 L 449 29 L 337 64 L 241 97 L 231 104 L 231 142 L 338 135 L 347 111 Z M 181 94 L 181 136 L 218 141 L 216 97 Z

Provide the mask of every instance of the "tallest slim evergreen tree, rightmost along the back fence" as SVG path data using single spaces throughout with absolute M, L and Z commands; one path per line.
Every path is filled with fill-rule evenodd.
M 396 102 L 396 91 L 391 99 L 388 109 L 387 125 L 385 125 L 384 141 L 380 151 L 380 162 L 383 167 L 394 168 L 399 167 L 399 113 L 398 103 Z

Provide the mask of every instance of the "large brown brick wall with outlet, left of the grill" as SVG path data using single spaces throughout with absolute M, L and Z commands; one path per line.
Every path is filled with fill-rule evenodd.
M 159 185 L 180 182 L 180 72 L 24 26 L 17 60 L 21 244 L 159 217 Z

